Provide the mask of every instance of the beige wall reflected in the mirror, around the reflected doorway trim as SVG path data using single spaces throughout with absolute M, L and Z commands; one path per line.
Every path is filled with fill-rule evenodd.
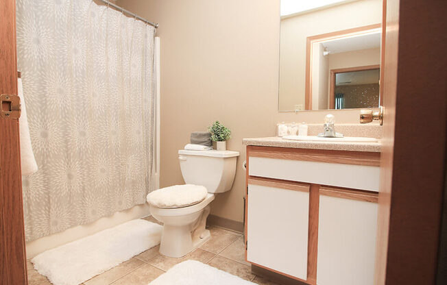
M 306 38 L 382 22 L 382 0 L 361 0 L 281 20 L 280 110 L 304 104 Z

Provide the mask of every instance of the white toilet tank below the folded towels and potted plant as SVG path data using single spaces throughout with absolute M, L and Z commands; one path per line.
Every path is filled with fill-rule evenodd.
M 178 151 L 184 182 L 205 186 L 208 193 L 231 189 L 238 156 L 239 151 Z

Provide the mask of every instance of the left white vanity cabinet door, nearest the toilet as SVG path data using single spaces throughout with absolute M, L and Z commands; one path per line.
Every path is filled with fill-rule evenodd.
M 309 185 L 249 179 L 247 199 L 247 260 L 306 280 Z

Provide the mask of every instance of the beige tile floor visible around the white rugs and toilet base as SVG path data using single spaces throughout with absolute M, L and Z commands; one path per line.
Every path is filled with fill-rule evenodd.
M 146 219 L 157 222 L 151 216 Z M 93 277 L 84 282 L 84 285 L 147 285 L 175 264 L 190 259 L 209 264 L 256 284 L 278 285 L 252 274 L 250 264 L 245 262 L 241 233 L 215 226 L 208 227 L 208 229 L 211 232 L 210 240 L 183 258 L 161 256 L 158 253 L 158 246 L 153 247 L 117 267 Z M 28 261 L 28 284 L 49 285 L 51 282 L 47 280 L 47 277 L 34 270 L 31 262 Z

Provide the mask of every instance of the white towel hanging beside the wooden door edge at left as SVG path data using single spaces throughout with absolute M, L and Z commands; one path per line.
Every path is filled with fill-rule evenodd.
M 22 175 L 30 175 L 37 171 L 37 163 L 34 158 L 33 148 L 31 145 L 31 137 L 29 136 L 28 119 L 26 116 L 25 99 L 23 98 L 22 79 L 17 81 L 17 92 L 21 101 L 21 116 L 19 119 L 20 127 L 20 154 L 22 164 Z

